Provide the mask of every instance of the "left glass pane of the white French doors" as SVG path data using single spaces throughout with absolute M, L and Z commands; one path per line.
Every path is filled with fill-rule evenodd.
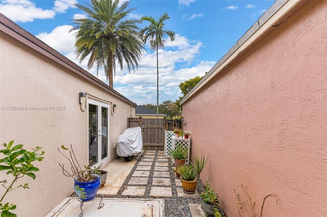
M 88 162 L 98 162 L 98 105 L 88 104 Z

